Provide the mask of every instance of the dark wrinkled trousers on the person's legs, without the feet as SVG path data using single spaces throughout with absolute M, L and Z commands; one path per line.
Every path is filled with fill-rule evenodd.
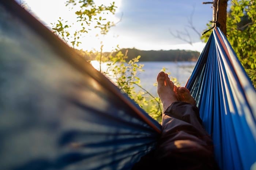
M 212 140 L 202 126 L 196 106 L 174 102 L 167 108 L 162 115 L 155 158 L 161 169 L 218 169 Z

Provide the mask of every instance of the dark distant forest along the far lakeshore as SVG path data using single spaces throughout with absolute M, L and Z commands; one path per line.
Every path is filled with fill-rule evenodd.
M 127 51 L 128 50 L 128 51 Z M 132 59 L 141 56 L 140 61 L 197 61 L 200 53 L 197 51 L 188 50 L 138 50 L 136 48 L 126 48 L 120 50 L 123 54 L 126 54 L 128 59 Z M 115 55 L 115 52 L 113 55 Z

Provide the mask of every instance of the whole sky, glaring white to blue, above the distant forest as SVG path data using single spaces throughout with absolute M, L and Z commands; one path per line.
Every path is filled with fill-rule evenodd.
M 17 0 L 19 2 L 19 0 Z M 59 17 L 68 23 L 76 23 L 74 9 L 66 7 L 66 0 L 24 0 L 29 11 L 49 29 L 50 23 L 56 23 Z M 95 0 L 97 3 L 110 3 L 110 0 Z M 107 35 L 95 37 L 98 30 L 92 30 L 81 37 L 79 49 L 103 51 L 120 48 L 139 50 L 195 50 L 201 52 L 204 43 L 199 35 L 188 25 L 189 21 L 198 32 L 206 29 L 206 23 L 212 19 L 211 4 L 202 4 L 205 0 L 116 0 L 117 11 L 110 20 L 116 24 Z M 192 20 L 191 14 L 193 12 Z M 174 37 L 177 31 L 189 32 L 192 45 Z M 182 34 L 180 34 L 182 35 Z M 188 40 L 187 36 L 183 37 Z

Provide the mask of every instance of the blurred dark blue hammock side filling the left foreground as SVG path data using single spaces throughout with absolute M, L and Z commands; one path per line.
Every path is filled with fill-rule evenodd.
M 161 125 L 15 1 L 0 1 L 0 169 L 131 169 Z

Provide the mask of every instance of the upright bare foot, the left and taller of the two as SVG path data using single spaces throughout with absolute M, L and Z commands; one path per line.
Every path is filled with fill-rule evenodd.
M 164 72 L 159 72 L 157 75 L 157 93 L 163 104 L 163 112 L 178 99 L 174 92 L 174 84 Z

